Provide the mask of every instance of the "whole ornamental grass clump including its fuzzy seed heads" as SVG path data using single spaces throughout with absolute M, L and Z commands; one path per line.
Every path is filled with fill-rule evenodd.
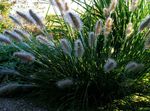
M 9 43 L 4 46 L 14 48 L 10 58 L 17 62 L 14 67 L 22 75 L 8 78 L 9 82 L 34 84 L 39 93 L 50 97 L 48 100 L 61 109 L 73 107 L 79 111 L 107 105 L 135 93 L 134 86 L 150 71 L 150 30 L 147 25 L 140 28 L 148 15 L 148 6 L 140 1 L 139 7 L 144 8 L 130 12 L 122 0 L 92 3 L 94 7 L 86 4 L 81 16 L 72 10 L 63 11 L 64 16 L 58 17 L 62 34 L 59 37 L 57 27 L 47 29 L 30 10 L 29 17 L 38 22 L 36 26 L 44 27 L 38 35 L 29 32 L 30 40 L 22 37 L 22 42 L 30 48 L 0 36 L 1 42 Z M 16 30 L 18 35 L 24 35 Z M 19 30 L 26 32 L 24 24 Z M 128 80 L 132 84 L 128 85 Z

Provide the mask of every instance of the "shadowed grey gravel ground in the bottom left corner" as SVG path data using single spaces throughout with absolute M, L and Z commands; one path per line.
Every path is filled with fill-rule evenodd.
M 23 99 L 0 98 L 0 111 L 48 111 Z

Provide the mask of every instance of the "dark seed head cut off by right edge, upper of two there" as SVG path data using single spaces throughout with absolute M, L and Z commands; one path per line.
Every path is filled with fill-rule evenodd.
M 150 15 L 147 16 L 144 21 L 140 24 L 139 31 L 144 30 L 145 28 L 150 27 Z

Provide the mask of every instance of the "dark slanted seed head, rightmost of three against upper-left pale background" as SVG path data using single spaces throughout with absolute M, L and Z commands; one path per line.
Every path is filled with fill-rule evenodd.
M 40 26 L 40 28 L 44 28 L 44 24 L 42 23 L 42 20 L 38 17 L 38 15 L 36 13 L 34 13 L 31 9 L 29 10 L 29 14 L 30 16 L 33 18 L 33 20 L 35 21 L 35 23 Z

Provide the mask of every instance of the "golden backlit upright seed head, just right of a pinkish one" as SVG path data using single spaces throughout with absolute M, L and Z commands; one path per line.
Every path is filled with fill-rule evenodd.
M 112 25 L 113 25 L 113 19 L 108 17 L 106 22 L 105 22 L 105 27 L 104 27 L 104 35 L 108 36 L 110 32 L 112 31 Z

